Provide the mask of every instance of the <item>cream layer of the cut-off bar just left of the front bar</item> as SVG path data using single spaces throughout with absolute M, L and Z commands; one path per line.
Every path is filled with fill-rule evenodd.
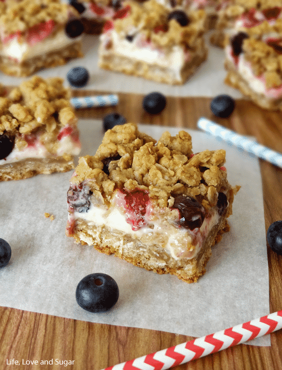
M 23 161 L 28 158 L 54 158 L 56 156 L 59 157 L 64 153 L 78 155 L 81 149 L 80 144 L 74 142 L 71 138 L 71 135 L 64 136 L 60 141 L 57 142 L 57 146 L 58 148 L 56 155 L 54 155 L 50 153 L 39 141 L 39 138 L 37 138 L 32 146 L 27 146 L 21 150 L 14 147 L 11 153 L 5 159 L 0 160 L 0 165 Z

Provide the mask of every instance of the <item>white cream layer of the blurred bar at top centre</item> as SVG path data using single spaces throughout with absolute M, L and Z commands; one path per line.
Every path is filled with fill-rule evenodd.
M 142 44 L 140 38 L 143 37 L 143 35 L 140 33 L 133 38 L 132 42 L 127 41 L 126 38 L 120 37 L 115 30 L 111 32 L 110 38 L 107 33 L 102 34 L 100 37 L 104 45 L 106 45 L 108 41 L 112 42 L 112 50 L 114 50 L 116 54 L 170 69 L 176 79 L 179 81 L 181 80 L 180 72 L 188 57 L 183 47 L 175 45 L 172 51 L 166 54 L 162 52 L 161 49 L 153 48 L 152 45 L 144 47 L 138 46 L 138 43 Z M 107 49 L 105 48 L 103 52 L 107 53 Z M 192 52 L 190 52 L 190 58 L 192 56 L 191 53 Z

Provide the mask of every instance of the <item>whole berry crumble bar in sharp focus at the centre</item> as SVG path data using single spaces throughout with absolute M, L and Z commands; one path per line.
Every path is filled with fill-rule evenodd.
M 105 133 L 80 157 L 67 198 L 67 236 L 159 274 L 195 282 L 229 230 L 234 194 L 224 150 L 192 153 L 191 136 L 156 143 L 136 125 Z

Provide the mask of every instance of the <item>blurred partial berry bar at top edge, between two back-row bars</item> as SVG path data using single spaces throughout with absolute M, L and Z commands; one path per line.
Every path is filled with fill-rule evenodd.
M 88 34 L 100 34 L 105 22 L 123 8 L 120 0 L 71 0 L 70 4 L 80 14 L 85 33 Z

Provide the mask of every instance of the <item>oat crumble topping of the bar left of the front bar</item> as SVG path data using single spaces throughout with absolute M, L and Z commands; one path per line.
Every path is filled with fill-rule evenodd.
M 50 145 L 57 140 L 59 130 L 76 122 L 69 103 L 70 91 L 59 77 L 44 80 L 33 76 L 0 97 L 0 135 L 15 137 L 15 145 L 28 145 L 29 134 L 42 131 L 42 140 Z

